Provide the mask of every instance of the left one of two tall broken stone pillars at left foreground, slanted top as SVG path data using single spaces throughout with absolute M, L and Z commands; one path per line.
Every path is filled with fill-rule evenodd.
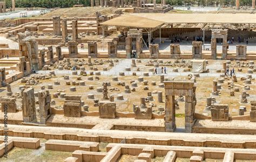
M 33 88 L 28 88 L 23 91 L 22 112 L 23 122 L 37 122 L 36 101 Z

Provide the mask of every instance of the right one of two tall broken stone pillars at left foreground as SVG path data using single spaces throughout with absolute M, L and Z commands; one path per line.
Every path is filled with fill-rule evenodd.
M 46 124 L 47 119 L 51 116 L 51 95 L 49 90 L 38 92 L 38 104 L 40 123 Z

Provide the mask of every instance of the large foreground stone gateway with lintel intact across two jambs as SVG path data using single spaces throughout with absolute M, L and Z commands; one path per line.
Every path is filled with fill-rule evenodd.
M 194 116 L 196 100 L 196 86 L 191 81 L 166 81 L 165 84 L 165 131 L 174 132 L 175 122 L 175 96 L 185 96 L 185 130 L 192 132 L 196 121 Z

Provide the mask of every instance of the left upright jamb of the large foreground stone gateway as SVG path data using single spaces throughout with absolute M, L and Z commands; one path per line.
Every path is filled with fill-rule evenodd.
M 165 96 L 165 131 L 174 132 L 175 123 L 175 96 Z

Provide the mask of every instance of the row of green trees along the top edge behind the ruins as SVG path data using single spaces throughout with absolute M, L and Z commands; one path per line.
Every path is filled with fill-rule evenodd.
M 5 0 L 5 2 L 6 8 L 11 8 L 11 0 Z M 160 3 L 160 0 L 157 0 L 157 2 Z M 17 8 L 70 8 L 75 4 L 90 6 L 90 0 L 16 0 L 15 2 Z M 214 6 L 220 4 L 234 6 L 235 0 L 166 0 L 166 4 L 198 6 Z M 252 0 L 240 0 L 240 5 L 250 6 L 251 4 Z

